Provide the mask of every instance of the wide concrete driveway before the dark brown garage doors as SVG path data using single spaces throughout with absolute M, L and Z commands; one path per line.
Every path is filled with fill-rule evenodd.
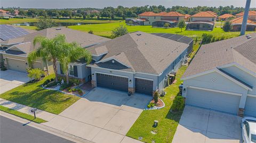
M 140 142 L 125 134 L 151 98 L 95 88 L 44 124 L 92 142 Z

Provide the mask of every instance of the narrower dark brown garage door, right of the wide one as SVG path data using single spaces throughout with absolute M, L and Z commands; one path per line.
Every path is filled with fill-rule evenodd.
M 135 78 L 135 92 L 152 96 L 153 81 Z

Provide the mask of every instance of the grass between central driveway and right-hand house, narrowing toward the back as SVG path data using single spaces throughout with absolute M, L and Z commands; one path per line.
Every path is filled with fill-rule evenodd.
M 176 76 L 177 82 L 165 88 L 167 94 L 165 97 L 161 97 L 165 107 L 160 110 L 143 111 L 126 136 L 134 139 L 142 137 L 142 141 L 150 143 L 152 140 L 155 142 L 172 142 L 182 112 L 170 112 L 170 108 L 174 97 L 179 93 L 180 78 L 186 69 L 186 66 L 182 66 Z M 153 127 L 154 120 L 158 120 L 156 128 Z M 151 131 L 156 132 L 156 134 L 152 134 Z

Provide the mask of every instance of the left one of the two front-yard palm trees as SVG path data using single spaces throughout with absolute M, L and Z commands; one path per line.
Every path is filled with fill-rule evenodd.
M 60 55 L 60 51 L 62 48 L 62 44 L 66 42 L 65 35 L 57 35 L 56 37 L 50 39 L 42 36 L 35 37 L 33 41 L 34 47 L 39 44 L 39 47 L 31 52 L 28 55 L 28 62 L 30 65 L 33 65 L 33 62 L 37 58 L 42 58 L 44 61 L 52 60 L 53 70 L 55 73 L 55 81 L 58 81 L 58 73 L 57 73 L 57 59 Z

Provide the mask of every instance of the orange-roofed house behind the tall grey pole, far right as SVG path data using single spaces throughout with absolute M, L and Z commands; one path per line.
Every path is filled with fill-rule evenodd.
M 232 26 L 231 31 L 241 31 L 243 16 L 233 19 L 230 22 Z M 247 19 L 246 31 L 255 31 L 255 30 L 256 30 L 256 22 L 253 22 L 252 20 Z

